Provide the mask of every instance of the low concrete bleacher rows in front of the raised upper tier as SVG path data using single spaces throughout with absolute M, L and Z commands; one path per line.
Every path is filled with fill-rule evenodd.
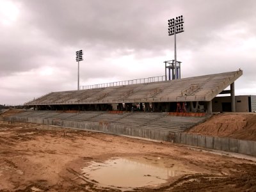
M 170 132 L 181 132 L 204 121 L 207 116 L 171 116 L 168 113 L 108 113 L 107 111 L 85 111 L 80 113 L 61 113 L 56 111 L 25 111 L 13 115 L 19 120 L 41 118 L 67 120 L 73 122 L 107 122 L 127 127 L 161 129 Z

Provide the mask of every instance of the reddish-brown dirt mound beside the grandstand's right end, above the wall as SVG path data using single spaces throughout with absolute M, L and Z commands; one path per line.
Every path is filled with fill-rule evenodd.
M 256 141 L 255 113 L 218 113 L 188 133 Z

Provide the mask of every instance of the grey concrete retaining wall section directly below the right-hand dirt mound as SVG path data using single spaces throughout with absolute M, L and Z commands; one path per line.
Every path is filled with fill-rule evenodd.
M 213 136 L 203 136 L 197 134 L 187 134 L 184 132 L 175 133 L 175 143 L 192 145 L 196 147 L 224 150 L 256 156 L 256 141 L 236 140 L 232 138 L 218 138 Z

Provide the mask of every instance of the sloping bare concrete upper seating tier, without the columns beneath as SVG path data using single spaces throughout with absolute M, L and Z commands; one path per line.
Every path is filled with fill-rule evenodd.
M 24 105 L 210 101 L 242 74 L 243 70 L 237 70 L 155 83 L 52 92 Z

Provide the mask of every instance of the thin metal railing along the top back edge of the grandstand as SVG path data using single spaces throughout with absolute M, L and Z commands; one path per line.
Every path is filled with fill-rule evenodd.
M 80 90 L 90 90 L 95 88 L 105 88 L 109 86 L 123 86 L 123 85 L 131 85 L 131 84 L 141 84 L 141 83 L 153 83 L 159 81 L 166 81 L 166 76 L 156 76 L 156 77 L 147 77 L 141 79 L 132 79 L 126 81 L 116 81 L 112 83 L 100 83 L 100 84 L 91 84 L 80 86 Z

